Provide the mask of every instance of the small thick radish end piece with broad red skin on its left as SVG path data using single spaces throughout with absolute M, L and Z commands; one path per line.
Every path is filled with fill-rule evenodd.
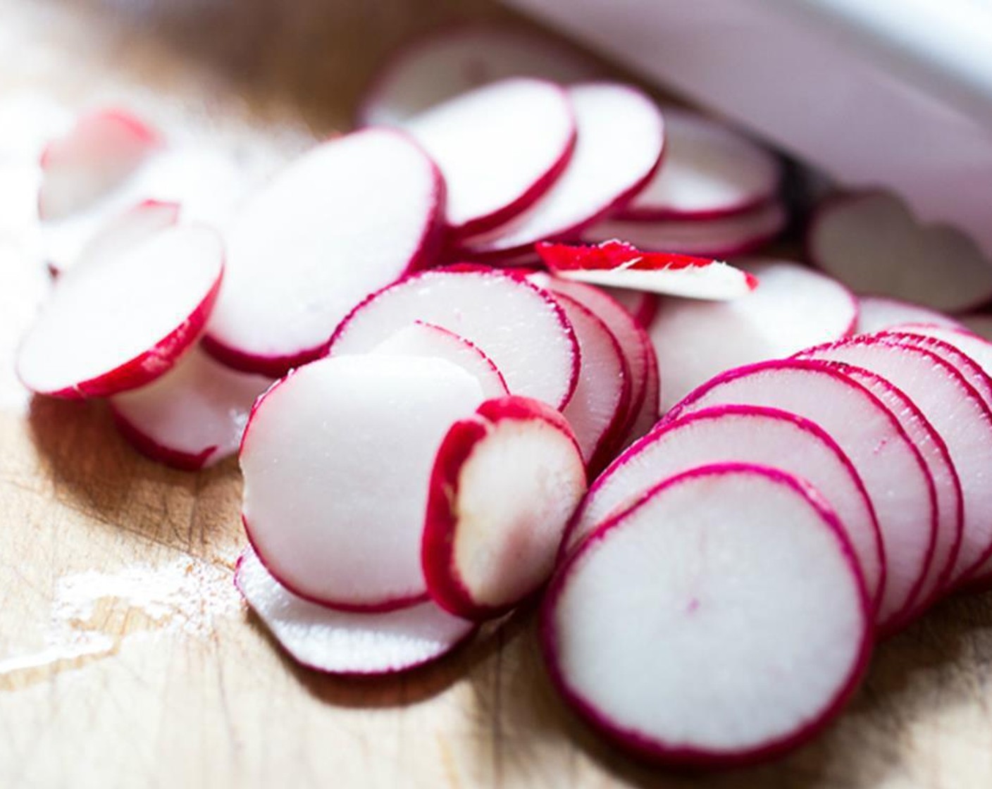
M 434 460 L 422 548 L 428 591 L 468 619 L 512 608 L 551 576 L 585 492 L 575 436 L 538 400 L 490 400 Z

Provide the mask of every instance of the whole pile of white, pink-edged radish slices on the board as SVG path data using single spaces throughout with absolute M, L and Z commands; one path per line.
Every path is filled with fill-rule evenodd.
M 258 189 L 219 168 L 213 197 L 199 154 L 85 115 L 41 163 L 53 289 L 17 369 L 107 398 L 152 458 L 238 453 L 235 582 L 301 664 L 413 669 L 547 587 L 589 723 L 751 761 L 827 723 L 877 637 L 992 580 L 992 343 L 938 312 L 967 282 L 928 307 L 714 259 L 783 229 L 778 158 L 595 76 L 450 31 L 359 130 Z M 879 199 L 817 214 L 822 268 L 884 282 L 861 228 L 912 221 Z

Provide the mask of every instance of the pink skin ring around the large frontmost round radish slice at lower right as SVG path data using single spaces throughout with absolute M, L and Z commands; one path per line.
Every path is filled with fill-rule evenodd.
M 766 743 L 757 748 L 740 751 L 733 754 L 717 755 L 712 751 L 700 748 L 666 745 L 646 737 L 637 731 L 624 730 L 606 718 L 606 716 L 596 710 L 593 706 L 587 704 L 577 692 L 572 691 L 565 682 L 564 677 L 561 675 L 558 649 L 556 647 L 557 638 L 555 633 L 555 617 L 553 611 L 558 596 L 561 594 L 564 585 L 567 582 L 569 575 L 568 570 L 572 567 L 572 565 L 574 565 L 583 554 L 591 550 L 596 543 L 604 540 L 609 532 L 622 524 L 626 517 L 641 504 L 658 495 L 666 488 L 677 485 L 682 481 L 692 479 L 697 476 L 709 476 L 743 469 L 760 469 L 762 474 L 791 487 L 797 493 L 802 495 L 809 505 L 816 511 L 821 521 L 829 528 L 833 537 L 839 543 L 846 564 L 851 571 L 851 575 L 856 581 L 861 603 L 861 611 L 866 622 L 866 626 L 863 631 L 861 643 L 858 647 L 857 657 L 851 666 L 851 672 L 847 682 L 844 683 L 844 685 L 837 691 L 833 699 L 827 704 L 826 707 L 824 707 L 816 718 L 806 723 L 795 732 L 779 740 Z M 858 565 L 857 558 L 854 556 L 854 551 L 851 548 L 850 542 L 847 540 L 843 529 L 837 522 L 836 516 L 832 511 L 823 506 L 819 500 L 818 494 L 816 494 L 815 491 L 810 492 L 810 490 L 801 486 L 795 477 L 776 468 L 751 465 L 747 463 L 717 463 L 713 465 L 701 466 L 700 468 L 694 468 L 662 481 L 645 493 L 638 501 L 626 510 L 607 520 L 591 535 L 589 535 L 589 537 L 587 537 L 578 549 L 567 559 L 565 564 L 558 568 L 558 572 L 552 580 L 551 586 L 549 587 L 548 593 L 545 595 L 545 599 L 542 604 L 540 635 L 541 645 L 546 656 L 545 663 L 548 666 L 548 671 L 552 682 L 558 689 L 558 693 L 561 694 L 562 698 L 574 710 L 578 711 L 579 715 L 585 721 L 590 723 L 596 730 L 605 735 L 609 740 L 642 758 L 662 764 L 679 764 L 686 767 L 705 768 L 737 767 L 767 761 L 778 754 L 784 753 L 785 751 L 791 750 L 803 744 L 824 726 L 830 723 L 832 719 L 843 709 L 848 699 L 850 699 L 854 691 L 857 689 L 861 678 L 864 676 L 864 673 L 868 668 L 873 643 L 871 636 L 871 610 L 871 601 L 868 597 L 864 579 L 861 576 L 861 569 Z

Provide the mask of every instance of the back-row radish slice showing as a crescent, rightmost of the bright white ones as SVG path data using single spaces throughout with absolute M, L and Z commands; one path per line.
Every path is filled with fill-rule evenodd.
M 578 140 L 555 186 L 529 210 L 465 238 L 472 259 L 523 251 L 577 231 L 636 195 L 654 175 L 665 144 L 662 115 L 640 90 L 612 82 L 568 88 Z

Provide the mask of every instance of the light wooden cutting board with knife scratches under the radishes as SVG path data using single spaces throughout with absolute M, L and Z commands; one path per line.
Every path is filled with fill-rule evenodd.
M 46 287 L 37 153 L 120 102 L 260 169 L 347 127 L 401 40 L 484 0 L 0 0 L 0 787 L 984 787 L 992 606 L 948 601 L 879 647 L 841 720 L 776 764 L 639 765 L 558 702 L 533 613 L 407 677 L 284 658 L 231 586 L 233 461 L 139 458 L 99 404 L 31 401 L 13 348 Z

